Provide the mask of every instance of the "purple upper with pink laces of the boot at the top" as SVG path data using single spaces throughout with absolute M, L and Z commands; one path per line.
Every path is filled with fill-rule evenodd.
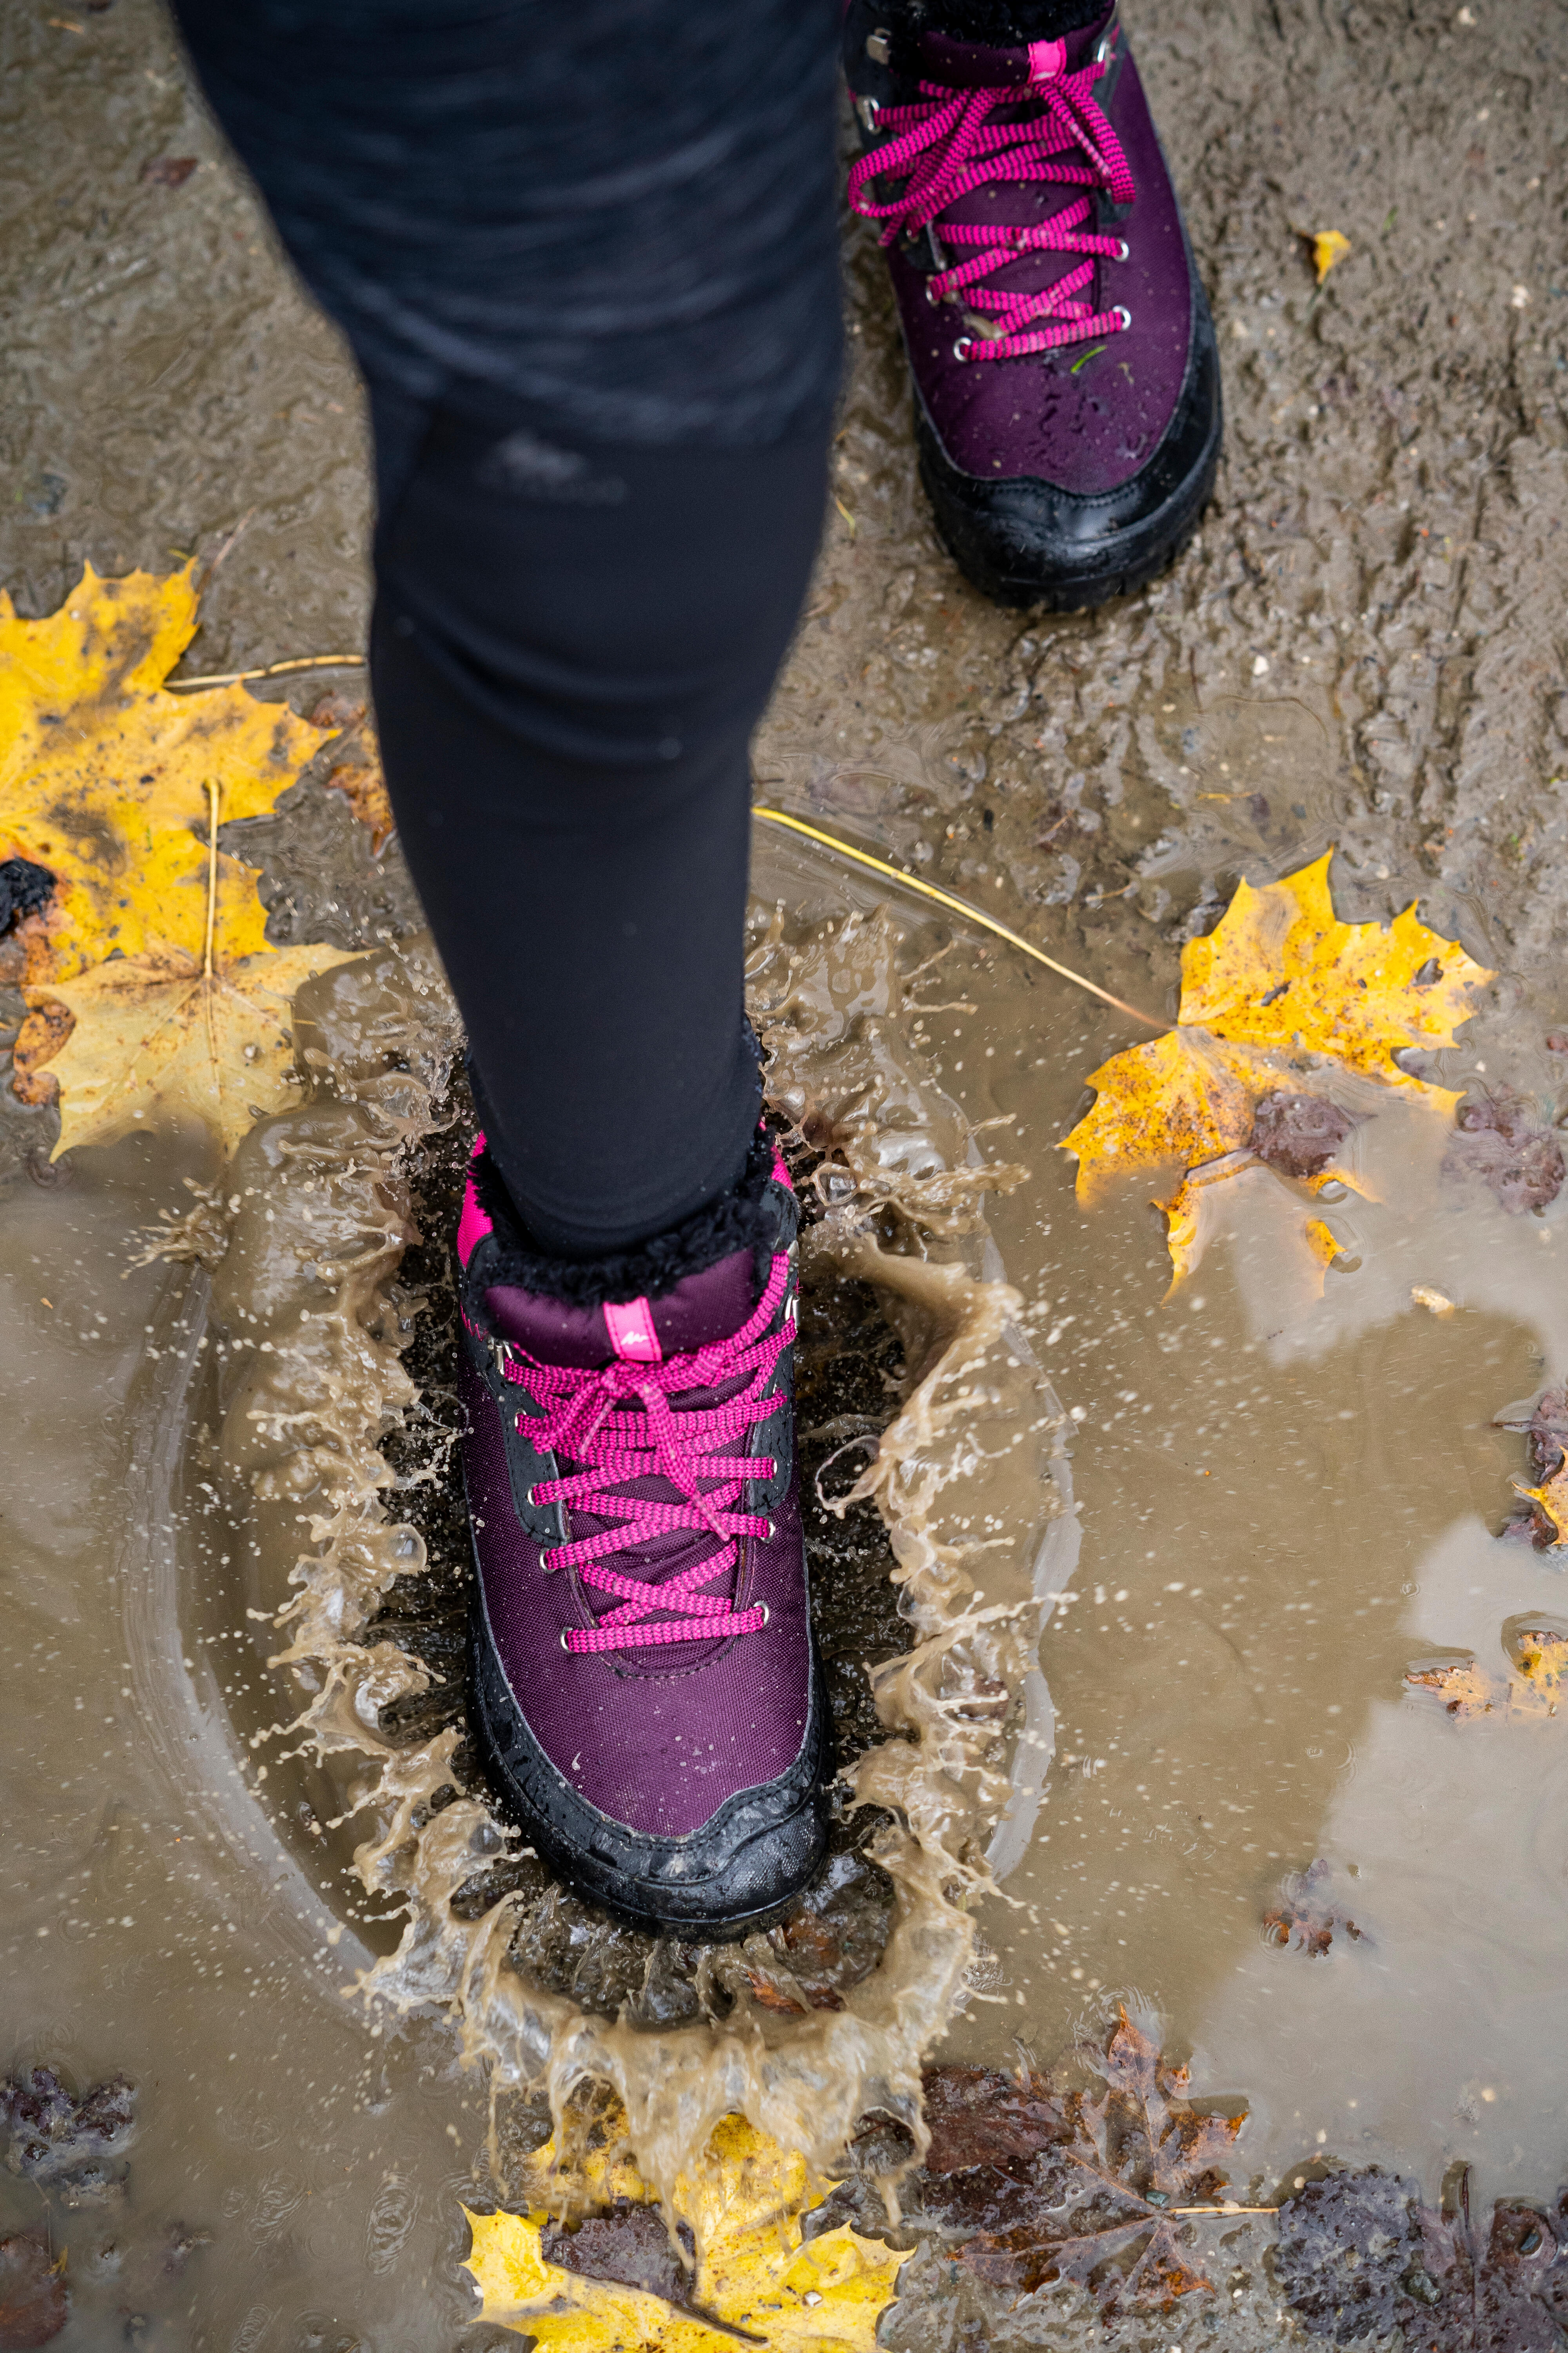
M 884 224 L 910 369 L 947 461 L 992 482 L 1119 489 L 1171 426 L 1194 301 L 1114 7 L 1020 49 L 877 24 L 851 12 L 867 151 L 849 193 Z M 856 40 L 860 26 L 872 31 Z

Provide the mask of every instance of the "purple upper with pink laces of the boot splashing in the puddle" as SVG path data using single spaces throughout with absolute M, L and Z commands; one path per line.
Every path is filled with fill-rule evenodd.
M 773 1181 L 788 1188 L 780 1162 Z M 470 1301 L 489 1238 L 470 1181 Z M 658 1299 L 571 1306 L 491 1282 L 484 1322 L 465 1315 L 484 1633 L 529 1755 L 607 1835 L 686 1840 L 818 1737 L 795 1289 L 792 1247 L 762 1289 L 741 1249 Z

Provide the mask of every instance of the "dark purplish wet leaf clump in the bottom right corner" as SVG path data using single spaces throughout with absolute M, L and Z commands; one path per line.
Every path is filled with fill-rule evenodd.
M 1552 2212 L 1500 2200 L 1486 2235 L 1469 2181 L 1434 2212 L 1380 2167 L 1312 2181 L 1279 2209 L 1274 2285 L 1338 2344 L 1392 2337 L 1408 2353 L 1561 2353 L 1568 2320 L 1568 2193 Z

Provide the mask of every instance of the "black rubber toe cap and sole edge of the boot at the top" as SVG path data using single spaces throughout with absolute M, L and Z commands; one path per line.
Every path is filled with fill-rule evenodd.
M 959 473 L 914 398 L 919 478 L 938 536 L 997 605 L 1081 612 L 1147 588 L 1192 539 L 1220 464 L 1225 402 L 1208 301 L 1192 280 L 1187 381 L 1150 464 L 1095 496 L 1016 478 Z

